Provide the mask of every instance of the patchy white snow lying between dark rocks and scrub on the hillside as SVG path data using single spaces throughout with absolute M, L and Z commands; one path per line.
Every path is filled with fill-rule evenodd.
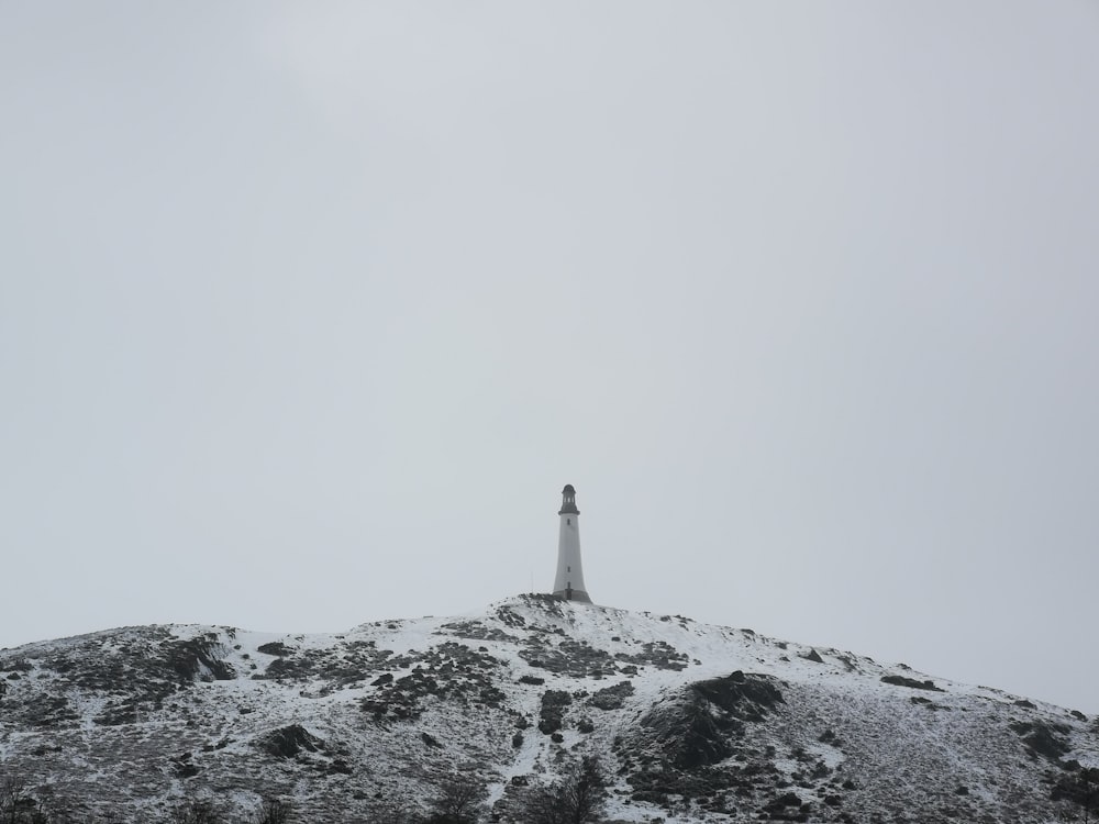
M 71 678 L 71 672 L 91 671 L 97 664 L 118 660 L 131 666 L 138 653 L 138 657 L 152 658 L 166 643 L 201 638 L 217 639 L 218 659 L 232 667 L 235 677 L 199 680 L 174 689 L 163 701 L 137 700 L 133 717 L 123 712 L 121 724 L 104 725 L 102 716 L 112 708 L 130 706 L 126 690 L 140 683 L 93 689 Z M 301 664 L 303 675 L 269 677 L 282 658 L 260 653 L 259 647 L 273 642 L 292 650 L 286 659 Z M 415 673 L 445 683 L 440 667 L 452 660 L 445 652 L 447 644 L 496 661 L 486 665 L 485 671 L 502 693 L 499 706 L 480 700 L 479 688 L 470 687 L 460 699 L 421 697 L 419 716 L 412 721 L 370 721 L 360 704 L 365 698 L 382 694 L 384 677 L 400 680 Z M 609 662 L 600 666 L 613 671 L 596 675 L 581 666 L 555 672 L 532 666 L 532 650 L 546 660 L 554 655 L 567 660 L 574 648 L 569 644 L 584 645 L 596 656 L 592 660 Z M 653 656 L 662 650 L 670 650 L 678 657 L 671 664 L 678 666 L 681 659 L 682 667 L 656 662 Z M 820 662 L 810 659 L 814 653 Z M 636 673 L 622 670 L 626 659 L 639 661 Z M 476 773 L 487 781 L 490 802 L 496 803 L 508 798 L 512 779 L 554 780 L 564 766 L 586 751 L 611 758 L 611 743 L 636 735 L 641 719 L 681 701 L 690 684 L 736 670 L 777 679 L 784 704 L 753 726 L 753 742 L 759 749 L 774 751 L 775 775 L 806 802 L 815 803 L 819 795 L 799 786 L 799 781 L 804 783 L 800 777 L 817 769 L 834 779 L 836 787 L 841 777 L 853 779 L 857 789 L 847 793 L 850 803 L 867 809 L 912 803 L 929 788 L 945 788 L 948 795 L 958 786 L 968 789 L 966 798 L 973 803 L 1000 809 L 997 805 L 1002 806 L 1009 789 L 1022 792 L 1019 787 L 1036 783 L 1037 767 L 1010 728 L 1028 720 L 1065 725 L 1072 745 L 1065 757 L 1099 765 L 1095 727 L 1061 708 L 1034 702 L 1034 709 L 1028 709 L 1017 704 L 1017 697 L 998 690 L 746 630 L 539 598 L 508 599 L 452 617 L 374 622 L 345 633 L 291 635 L 204 625 L 124 627 L 3 650 L 0 671 L 23 660 L 30 670 L 25 677 L 5 681 L 9 693 L 2 705 L 30 708 L 37 697 L 57 695 L 75 721 L 43 728 L 0 716 L 0 766 L 32 764 L 41 770 L 42 782 L 60 792 L 88 793 L 97 787 L 104 804 L 113 794 L 129 799 L 125 803 L 134 810 L 153 810 L 209 779 L 234 787 L 231 799 L 240 810 L 254 806 L 265 791 L 274 789 L 299 798 L 303 808 L 321 815 L 318 811 L 331 803 L 326 799 L 333 792 L 342 798 L 341 792 L 349 793 L 355 787 L 369 790 L 363 790 L 367 799 L 378 791 L 422 799 L 424 786 L 448 772 Z M 73 662 L 71 667 L 59 666 L 60 660 Z M 476 660 L 457 666 L 451 677 L 474 679 L 477 666 Z M 200 679 L 215 675 L 200 667 Z M 544 683 L 523 683 L 523 676 L 542 678 Z M 937 689 L 889 684 L 882 682 L 885 676 L 930 680 Z M 634 689 L 621 709 L 586 705 L 584 695 L 621 681 Z M 546 690 L 580 695 L 566 710 L 560 743 L 537 728 Z M 593 732 L 577 728 L 582 716 L 595 723 Z M 525 728 L 518 726 L 519 720 L 525 720 Z M 274 761 L 257 749 L 263 736 L 290 724 L 323 739 L 325 750 L 302 756 L 298 764 Z M 518 748 L 512 745 L 517 732 L 523 736 Z M 430 748 L 424 735 L 442 746 Z M 62 750 L 27 761 L 27 754 L 44 742 L 57 742 Z M 170 759 L 184 753 L 191 754 L 202 779 L 166 781 L 165 776 L 171 775 Z M 351 765 L 354 775 L 325 773 L 326 789 L 318 789 L 315 776 L 337 758 Z M 686 801 L 682 810 L 669 811 L 633 800 L 624 778 L 615 781 L 610 817 L 664 817 L 670 823 L 697 822 L 703 815 Z M 1033 788 L 1026 792 L 1031 793 L 1028 799 L 1036 798 Z M 704 817 L 735 820 L 719 813 Z

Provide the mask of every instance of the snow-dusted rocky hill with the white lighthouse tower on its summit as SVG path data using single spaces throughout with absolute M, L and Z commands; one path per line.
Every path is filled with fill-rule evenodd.
M 334 635 L 144 626 L 0 652 L 0 773 L 51 809 L 380 820 L 454 780 L 521 821 L 598 755 L 608 820 L 1051 822 L 1081 713 L 751 630 L 522 595 Z

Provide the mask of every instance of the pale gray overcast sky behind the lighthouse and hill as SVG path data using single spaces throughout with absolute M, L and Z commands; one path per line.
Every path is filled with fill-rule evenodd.
M 0 646 L 553 584 L 1099 712 L 1099 4 L 0 0 Z

